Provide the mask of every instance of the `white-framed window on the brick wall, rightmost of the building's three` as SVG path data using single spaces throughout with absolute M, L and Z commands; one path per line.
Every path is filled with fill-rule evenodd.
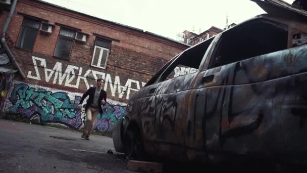
M 111 41 L 104 39 L 96 39 L 91 63 L 92 66 L 106 69 L 110 46 Z

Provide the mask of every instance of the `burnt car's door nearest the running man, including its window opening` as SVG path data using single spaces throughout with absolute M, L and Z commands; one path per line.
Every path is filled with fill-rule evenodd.
M 142 124 L 144 133 L 150 134 L 144 140 L 151 146 L 147 148 L 151 152 L 177 160 L 183 158 L 190 89 L 209 41 L 183 52 L 164 70 L 157 82 L 150 85 L 151 90 L 155 90 L 154 96 L 143 101 L 147 105 L 144 112 L 151 116 L 147 116 Z M 155 148 L 154 143 L 159 148 Z

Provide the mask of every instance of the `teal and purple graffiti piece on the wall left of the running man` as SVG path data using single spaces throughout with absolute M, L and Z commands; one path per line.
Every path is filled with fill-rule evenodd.
M 78 109 L 80 97 L 70 100 L 66 93 L 52 93 L 45 89 L 30 88 L 25 83 L 15 86 L 9 100 L 10 112 L 22 113 L 28 118 L 38 114 L 41 121 L 60 122 L 73 128 L 82 125 L 81 111 Z

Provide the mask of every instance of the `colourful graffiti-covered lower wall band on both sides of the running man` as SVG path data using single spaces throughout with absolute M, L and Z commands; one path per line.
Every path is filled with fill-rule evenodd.
M 28 118 L 39 117 L 40 121 L 80 129 L 85 122 L 84 108 L 78 108 L 81 97 L 80 93 L 14 81 L 7 96 L 5 111 L 21 113 Z M 107 102 L 104 113 L 98 115 L 94 125 L 95 130 L 103 133 L 111 133 L 125 111 L 125 104 L 110 99 L 107 99 Z M 83 104 L 85 103 L 84 101 Z

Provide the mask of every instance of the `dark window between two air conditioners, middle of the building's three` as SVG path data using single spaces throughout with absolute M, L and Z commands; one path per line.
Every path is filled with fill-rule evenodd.
M 69 59 L 75 36 L 76 31 L 61 28 L 54 56 Z

